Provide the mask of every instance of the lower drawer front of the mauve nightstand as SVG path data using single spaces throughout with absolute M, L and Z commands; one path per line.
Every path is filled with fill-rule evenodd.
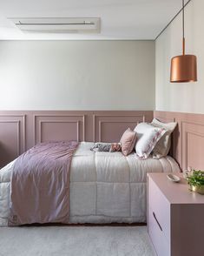
M 161 225 L 151 207 L 148 207 L 148 234 L 158 256 L 170 256 L 170 243 L 164 236 Z

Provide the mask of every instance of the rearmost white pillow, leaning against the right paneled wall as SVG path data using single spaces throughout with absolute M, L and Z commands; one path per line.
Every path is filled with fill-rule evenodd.
M 166 157 L 171 146 L 171 133 L 174 131 L 177 123 L 162 123 L 154 118 L 151 125 L 167 130 L 164 136 L 162 136 L 162 138 L 157 142 L 153 150 L 153 158 Z

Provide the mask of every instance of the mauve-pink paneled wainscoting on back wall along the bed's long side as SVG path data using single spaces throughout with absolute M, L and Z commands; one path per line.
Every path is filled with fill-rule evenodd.
M 0 111 L 0 166 L 50 140 L 119 141 L 153 111 Z

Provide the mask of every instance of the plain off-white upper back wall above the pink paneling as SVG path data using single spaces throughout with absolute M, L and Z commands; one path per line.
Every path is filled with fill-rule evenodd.
M 153 41 L 0 41 L 0 110 L 154 110 Z

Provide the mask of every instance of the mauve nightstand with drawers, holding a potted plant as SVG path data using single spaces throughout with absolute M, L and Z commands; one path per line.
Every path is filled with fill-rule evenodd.
M 148 234 L 158 256 L 203 256 L 204 195 L 178 175 L 174 183 L 167 173 L 148 173 Z

